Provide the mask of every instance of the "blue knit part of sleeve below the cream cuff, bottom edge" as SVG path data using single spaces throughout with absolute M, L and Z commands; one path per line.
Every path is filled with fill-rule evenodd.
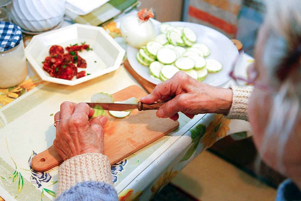
M 85 181 L 78 183 L 70 189 L 61 193 L 57 200 L 115 201 L 118 200 L 118 196 L 115 189 L 110 184 L 101 181 Z

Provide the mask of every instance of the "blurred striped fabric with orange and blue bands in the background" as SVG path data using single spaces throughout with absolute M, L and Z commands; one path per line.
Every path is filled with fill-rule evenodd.
M 254 46 L 265 12 L 264 0 L 190 0 L 186 21 L 203 24 Z M 249 54 L 253 55 L 250 50 Z

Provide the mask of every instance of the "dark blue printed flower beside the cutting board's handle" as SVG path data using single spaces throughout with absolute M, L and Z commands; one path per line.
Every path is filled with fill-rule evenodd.
M 29 160 L 28 160 L 28 165 L 30 168 L 30 181 L 31 183 L 33 183 L 36 188 L 40 188 L 42 187 L 42 182 L 49 182 L 52 179 L 52 176 L 48 173 L 48 172 L 37 172 L 35 170 L 33 170 L 32 166 L 31 166 L 31 160 L 33 159 L 34 156 L 36 156 L 37 153 L 35 151 L 33 151 L 33 153 L 31 154 Z

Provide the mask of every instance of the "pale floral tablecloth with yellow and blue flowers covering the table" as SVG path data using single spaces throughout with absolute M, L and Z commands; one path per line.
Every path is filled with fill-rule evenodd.
M 104 28 L 126 47 L 116 21 Z M 24 43 L 29 39 L 24 37 Z M 245 54 L 242 71 L 251 62 L 253 59 Z M 65 100 L 86 102 L 97 92 L 113 94 L 139 84 L 123 65 L 76 86 L 44 82 L 30 65 L 28 70 L 28 77 L 20 85 L 0 89 L 0 196 L 5 200 L 52 200 L 57 191 L 58 167 L 36 172 L 31 168 L 31 159 L 52 145 L 53 115 L 60 104 Z M 179 122 L 175 131 L 111 166 L 119 200 L 151 199 L 217 140 L 237 132 L 240 137 L 250 135 L 248 122 L 217 114 L 197 115 L 192 120 L 180 114 Z

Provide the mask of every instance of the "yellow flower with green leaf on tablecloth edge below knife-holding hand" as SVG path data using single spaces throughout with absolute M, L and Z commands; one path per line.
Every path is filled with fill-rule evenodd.
M 211 147 L 218 138 L 225 137 L 227 131 L 230 130 L 230 119 L 226 119 L 222 114 L 215 114 L 215 118 L 209 123 L 208 127 L 203 124 L 199 124 L 196 128 L 191 129 L 191 147 L 187 150 L 183 158 L 179 161 L 183 162 L 194 154 L 195 150 L 201 143 L 203 149 Z

